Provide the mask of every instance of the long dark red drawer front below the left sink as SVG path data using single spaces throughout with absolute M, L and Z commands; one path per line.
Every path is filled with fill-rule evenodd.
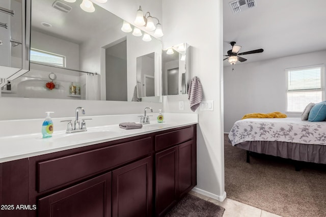
M 148 156 L 151 147 L 151 138 L 147 137 L 38 162 L 37 190 L 42 192 Z

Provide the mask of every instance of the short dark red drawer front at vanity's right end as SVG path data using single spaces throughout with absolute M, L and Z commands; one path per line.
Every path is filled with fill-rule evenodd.
M 155 136 L 155 150 L 161 150 L 194 137 L 194 127 L 188 127 Z

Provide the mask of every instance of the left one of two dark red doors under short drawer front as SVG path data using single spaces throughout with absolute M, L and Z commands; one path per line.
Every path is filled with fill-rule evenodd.
M 156 153 L 156 216 L 164 214 L 177 202 L 177 146 Z

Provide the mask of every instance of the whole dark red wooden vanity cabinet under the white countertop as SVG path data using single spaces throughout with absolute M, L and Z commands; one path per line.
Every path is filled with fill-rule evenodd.
M 1 216 L 164 215 L 196 185 L 196 124 L 152 126 L 1 163 Z

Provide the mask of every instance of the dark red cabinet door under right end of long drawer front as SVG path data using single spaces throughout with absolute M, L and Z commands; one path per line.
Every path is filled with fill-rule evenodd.
M 112 172 L 112 215 L 151 216 L 151 157 Z

